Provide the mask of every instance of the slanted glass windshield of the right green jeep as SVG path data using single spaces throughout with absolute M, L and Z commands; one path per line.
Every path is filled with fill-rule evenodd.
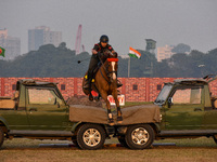
M 163 105 L 168 97 L 171 87 L 173 84 L 165 84 L 154 103 L 157 105 Z

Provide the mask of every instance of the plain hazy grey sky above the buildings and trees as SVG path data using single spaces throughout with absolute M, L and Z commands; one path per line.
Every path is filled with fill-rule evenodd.
M 79 24 L 87 52 L 104 33 L 118 54 L 129 46 L 144 50 L 144 39 L 207 52 L 217 48 L 216 6 L 217 0 L 0 0 L 0 29 L 21 38 L 22 53 L 28 29 L 42 25 L 62 31 L 74 50 Z

